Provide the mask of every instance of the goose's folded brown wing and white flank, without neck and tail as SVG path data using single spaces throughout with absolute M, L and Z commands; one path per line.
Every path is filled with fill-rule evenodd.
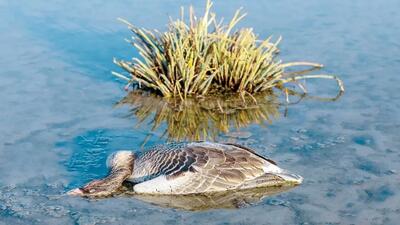
M 274 164 L 240 145 L 209 142 L 186 144 L 151 158 L 158 163 L 151 163 L 153 170 L 147 171 L 156 176 L 136 185 L 135 191 L 189 194 L 237 189 L 264 175 L 266 164 Z

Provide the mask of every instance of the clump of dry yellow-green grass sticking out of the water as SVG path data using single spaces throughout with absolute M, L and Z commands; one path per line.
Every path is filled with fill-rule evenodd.
M 166 32 L 148 31 L 126 23 L 133 32 L 128 40 L 139 52 L 141 59 L 114 60 L 130 77 L 113 72 L 128 81 L 128 85 L 155 91 L 164 97 L 186 98 L 221 92 L 255 94 L 305 78 L 336 79 L 332 75 L 287 76 L 285 68 L 291 66 L 322 67 L 309 62 L 282 63 L 276 59 L 281 38 L 271 37 L 259 41 L 251 28 L 234 30 L 245 16 L 238 10 L 227 24 L 216 19 L 207 1 L 201 18 L 190 7 L 188 21 L 184 10 L 181 18 L 172 20 Z

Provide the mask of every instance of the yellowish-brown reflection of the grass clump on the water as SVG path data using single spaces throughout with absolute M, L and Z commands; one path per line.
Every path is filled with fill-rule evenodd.
M 152 130 L 165 122 L 164 135 L 169 140 L 213 140 L 221 132 L 264 124 L 279 116 L 277 97 L 268 96 L 212 96 L 207 98 L 162 98 L 142 90 L 135 90 L 117 105 L 131 105 L 132 114 L 140 125 L 151 121 Z

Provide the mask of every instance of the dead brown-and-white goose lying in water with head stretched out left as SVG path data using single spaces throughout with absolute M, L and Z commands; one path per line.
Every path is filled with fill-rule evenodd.
M 145 153 L 118 151 L 108 159 L 110 174 L 70 195 L 99 197 L 112 194 L 124 181 L 138 194 L 197 194 L 255 187 L 297 185 L 302 177 L 238 144 L 173 143 Z

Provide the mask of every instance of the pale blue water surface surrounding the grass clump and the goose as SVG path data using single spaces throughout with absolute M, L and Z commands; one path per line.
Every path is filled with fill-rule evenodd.
M 136 53 L 116 21 L 163 30 L 191 1 L 0 1 L 0 224 L 398 224 L 400 219 L 400 2 L 218 1 L 260 37 L 284 37 L 281 58 L 326 65 L 346 93 L 306 100 L 271 125 L 233 138 L 304 183 L 241 209 L 176 210 L 135 198 L 61 196 L 106 173 L 107 155 L 163 143 L 135 127 L 112 58 Z M 193 1 L 202 8 L 202 1 Z M 331 81 L 308 83 L 335 94 Z M 162 127 L 161 127 L 162 128 Z M 244 134 L 244 135 L 243 135 Z

